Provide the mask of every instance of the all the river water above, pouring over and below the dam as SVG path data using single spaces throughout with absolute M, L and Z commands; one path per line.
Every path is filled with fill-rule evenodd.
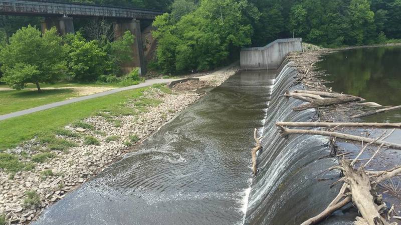
M 400 52 L 397 47 L 339 51 L 324 56 L 319 66 L 333 74 L 326 78 L 334 81 L 335 91 L 401 104 Z M 232 76 L 133 153 L 49 207 L 36 224 L 292 225 L 318 214 L 338 193 L 339 185 L 329 188 L 338 172 L 323 172 L 338 161 L 326 157 L 327 137 L 283 138 L 275 126 L 276 121 L 315 121 L 318 116 L 315 109 L 292 111 L 302 102 L 280 96 L 303 88 L 293 83 L 291 63 L 283 63 L 276 76 L 266 71 Z M 364 120 L 400 118 L 394 111 Z M 260 171 L 252 178 L 255 127 L 264 138 Z M 400 136 L 394 132 L 387 140 L 400 142 Z M 401 160 L 396 151 L 386 157 Z M 353 224 L 356 213 L 348 205 L 321 224 Z

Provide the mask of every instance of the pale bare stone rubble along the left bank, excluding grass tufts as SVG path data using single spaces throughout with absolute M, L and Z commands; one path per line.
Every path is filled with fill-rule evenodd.
M 202 80 L 210 86 L 218 86 L 229 76 L 235 74 L 238 68 L 225 69 L 212 73 Z M 135 115 L 113 116 L 114 120 L 120 120 L 119 126 L 113 121 L 108 121 L 102 116 L 92 116 L 84 119 L 94 126 L 94 129 L 74 128 L 67 125 L 65 128 L 80 134 L 79 137 L 60 138 L 72 140 L 78 144 L 70 147 L 68 151 L 53 150 L 56 158 L 43 163 L 37 163 L 30 171 L 20 171 L 14 177 L 0 170 L 0 215 L 6 215 L 7 224 L 26 224 L 36 219 L 45 207 L 62 199 L 65 194 L 74 190 L 79 185 L 99 173 L 109 164 L 119 160 L 125 153 L 132 150 L 126 145 L 130 135 L 139 137 L 139 141 L 149 137 L 164 123 L 172 119 L 175 114 L 193 104 L 203 93 L 194 91 L 165 93 L 157 88 L 149 88 L 143 97 L 158 99 L 161 101 L 156 106 L 146 106 L 144 112 Z M 135 100 L 127 102 L 127 106 L 133 106 Z M 96 137 L 99 145 L 85 145 L 84 136 Z M 117 140 L 106 141 L 110 135 L 118 136 Z M 30 161 L 30 156 L 46 149 L 36 138 L 22 143 L 7 152 L 20 156 L 23 161 Z M 53 176 L 43 177 L 40 174 L 45 169 L 51 169 Z M 27 191 L 36 191 L 40 197 L 38 205 L 24 204 Z

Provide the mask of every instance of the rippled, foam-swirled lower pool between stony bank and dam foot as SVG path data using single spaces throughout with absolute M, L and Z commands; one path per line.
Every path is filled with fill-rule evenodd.
M 273 82 L 267 71 L 230 77 L 34 224 L 243 223 Z

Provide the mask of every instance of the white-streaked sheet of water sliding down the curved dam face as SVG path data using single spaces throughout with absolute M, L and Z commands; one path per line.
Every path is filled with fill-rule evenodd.
M 315 121 L 315 109 L 294 112 L 303 102 L 280 96 L 287 89 L 303 89 L 294 83 L 297 74 L 293 62 L 285 61 L 273 85 L 271 101 L 264 124 L 262 145 L 258 154 L 258 176 L 253 179 L 245 224 L 300 224 L 319 214 L 337 195 L 336 171 L 325 169 L 336 164 L 329 155 L 328 138 L 318 135 L 290 135 L 283 138 L 276 121 Z M 320 181 L 318 180 L 320 178 Z M 327 179 L 327 180 L 324 180 Z M 355 210 L 346 208 L 320 224 L 353 224 Z

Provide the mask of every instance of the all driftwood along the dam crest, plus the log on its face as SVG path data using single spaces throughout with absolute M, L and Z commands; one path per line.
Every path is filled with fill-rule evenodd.
M 328 51 L 327 51 L 328 52 Z M 320 111 L 328 111 L 330 114 L 333 111 L 342 108 L 342 118 L 359 118 L 367 115 L 372 115 L 380 112 L 387 112 L 390 110 L 401 109 L 401 105 L 398 106 L 382 106 L 375 102 L 364 102 L 365 99 L 342 93 L 335 93 L 331 88 L 324 85 L 327 83 L 321 76 L 324 76 L 324 72 L 314 71 L 314 64 L 319 61 L 320 53 L 307 53 L 300 57 L 300 53 L 294 53 L 289 55 L 287 58 L 293 63 L 290 66 L 297 67 L 298 74 L 295 77 L 295 84 L 303 84 L 308 90 L 295 89 L 292 91 L 287 90 L 281 96 L 287 98 L 296 98 L 304 101 L 305 103 L 293 108 L 294 111 L 302 111 L 309 108 L 316 108 Z M 362 103 L 363 102 L 363 103 Z M 345 106 L 344 106 L 345 105 Z M 328 108 L 328 106 L 333 106 Z M 372 110 L 372 107 L 379 107 L 379 109 Z M 346 109 L 346 110 L 344 110 Z M 345 112 L 344 112 L 345 111 Z M 323 113 L 324 114 L 324 113 Z M 333 113 L 332 113 L 333 114 Z M 322 114 L 321 114 L 322 115 Z M 330 121 L 335 116 L 323 117 L 321 120 Z M 381 149 L 391 147 L 392 149 L 401 149 L 401 144 L 392 143 L 385 141 L 396 128 L 401 128 L 401 123 L 377 123 L 377 122 L 286 122 L 278 121 L 276 125 L 279 127 L 280 132 L 283 136 L 293 134 L 310 134 L 310 135 L 324 135 L 329 136 L 333 142 L 336 139 L 347 139 L 351 141 L 361 142 L 365 144 L 359 150 L 358 154 L 353 159 L 347 159 L 345 156 L 349 152 L 342 154 L 333 153 L 337 157 L 341 157 L 339 164 L 328 168 L 327 170 L 340 170 L 342 177 L 334 182 L 332 186 L 341 184 L 339 193 L 331 201 L 331 203 L 322 210 L 318 215 L 309 218 L 304 221 L 302 225 L 316 224 L 328 216 L 330 216 L 336 210 L 351 203 L 359 210 L 359 215 L 355 218 L 354 224 L 357 225 L 377 225 L 377 224 L 397 224 L 396 222 L 390 223 L 390 218 L 400 218 L 394 212 L 392 206 L 387 210 L 386 204 L 382 199 L 382 195 L 377 192 L 377 185 L 383 181 L 389 180 L 395 176 L 401 174 L 401 165 L 395 165 L 393 168 L 389 168 L 383 171 L 372 171 L 366 170 L 367 165 L 377 156 Z M 296 127 L 296 128 L 288 128 Z M 302 127 L 319 127 L 312 129 L 301 129 Z M 377 138 L 369 138 L 366 136 L 358 136 L 347 134 L 343 132 L 334 131 L 338 127 L 368 127 L 368 128 L 394 128 L 388 134 L 383 133 Z M 386 135 L 385 135 L 386 134 Z M 253 173 L 257 173 L 256 164 L 256 152 L 262 148 L 260 139 L 254 133 L 256 140 L 256 146 L 252 149 L 252 162 L 253 162 Z M 376 145 L 377 149 L 371 155 L 370 158 L 361 159 L 360 156 L 367 149 L 368 146 Z M 362 163 L 361 163 L 362 162 Z M 386 212 L 386 213 L 385 213 Z

